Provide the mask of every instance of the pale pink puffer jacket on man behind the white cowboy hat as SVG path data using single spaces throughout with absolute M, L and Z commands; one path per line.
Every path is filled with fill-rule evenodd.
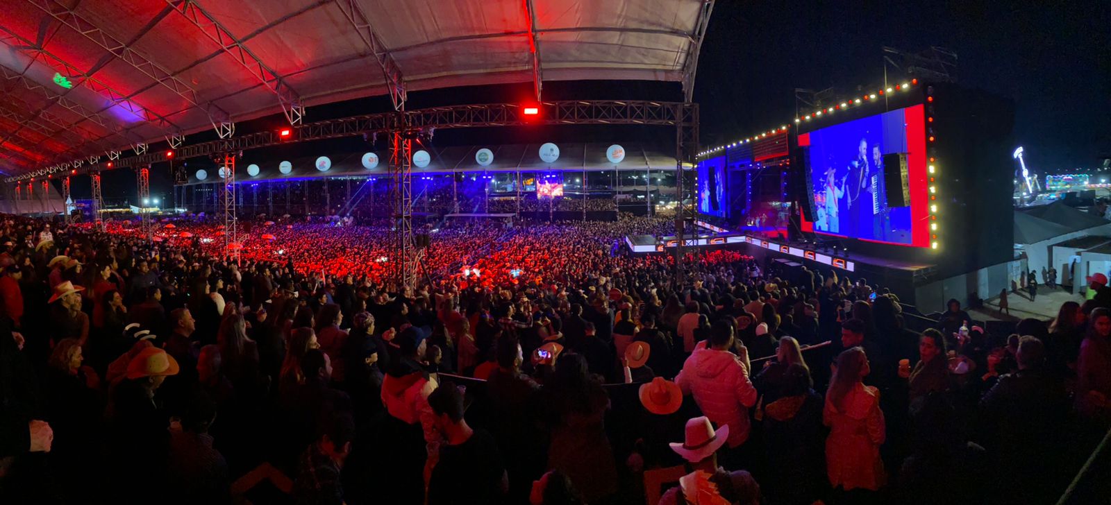
M 683 394 L 694 395 L 694 402 L 713 424 L 729 425 L 730 447 L 749 438 L 749 407 L 757 403 L 757 390 L 737 355 L 729 351 L 697 350 L 683 363 L 675 383 Z

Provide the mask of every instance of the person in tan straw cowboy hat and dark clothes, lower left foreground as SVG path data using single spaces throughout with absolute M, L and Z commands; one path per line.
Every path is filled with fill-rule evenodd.
M 128 363 L 126 378 L 113 390 L 108 467 L 120 471 L 107 476 L 119 502 L 149 501 L 160 493 L 170 416 L 154 393 L 166 377 L 178 372 L 173 356 L 158 347 L 144 347 Z

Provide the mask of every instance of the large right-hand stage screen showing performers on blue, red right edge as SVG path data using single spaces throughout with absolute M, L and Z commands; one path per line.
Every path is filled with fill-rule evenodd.
M 807 172 L 813 193 L 814 232 L 929 246 L 922 105 L 803 133 L 799 147 L 809 147 Z M 901 175 L 903 164 L 905 178 Z

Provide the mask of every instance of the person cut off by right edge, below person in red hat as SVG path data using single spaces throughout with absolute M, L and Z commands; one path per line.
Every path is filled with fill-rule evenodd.
M 1077 410 L 1100 425 L 1111 424 L 1111 310 L 1088 316 L 1088 334 L 1077 360 Z

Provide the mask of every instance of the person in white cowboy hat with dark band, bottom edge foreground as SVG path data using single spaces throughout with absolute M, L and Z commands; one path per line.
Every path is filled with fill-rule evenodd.
M 671 450 L 687 459 L 691 473 L 679 486 L 660 497 L 660 505 L 757 505 L 760 485 L 744 471 L 729 472 L 718 466 L 717 451 L 725 444 L 729 426 L 714 431 L 710 420 L 694 417 L 687 422 L 683 442 L 672 442 Z

